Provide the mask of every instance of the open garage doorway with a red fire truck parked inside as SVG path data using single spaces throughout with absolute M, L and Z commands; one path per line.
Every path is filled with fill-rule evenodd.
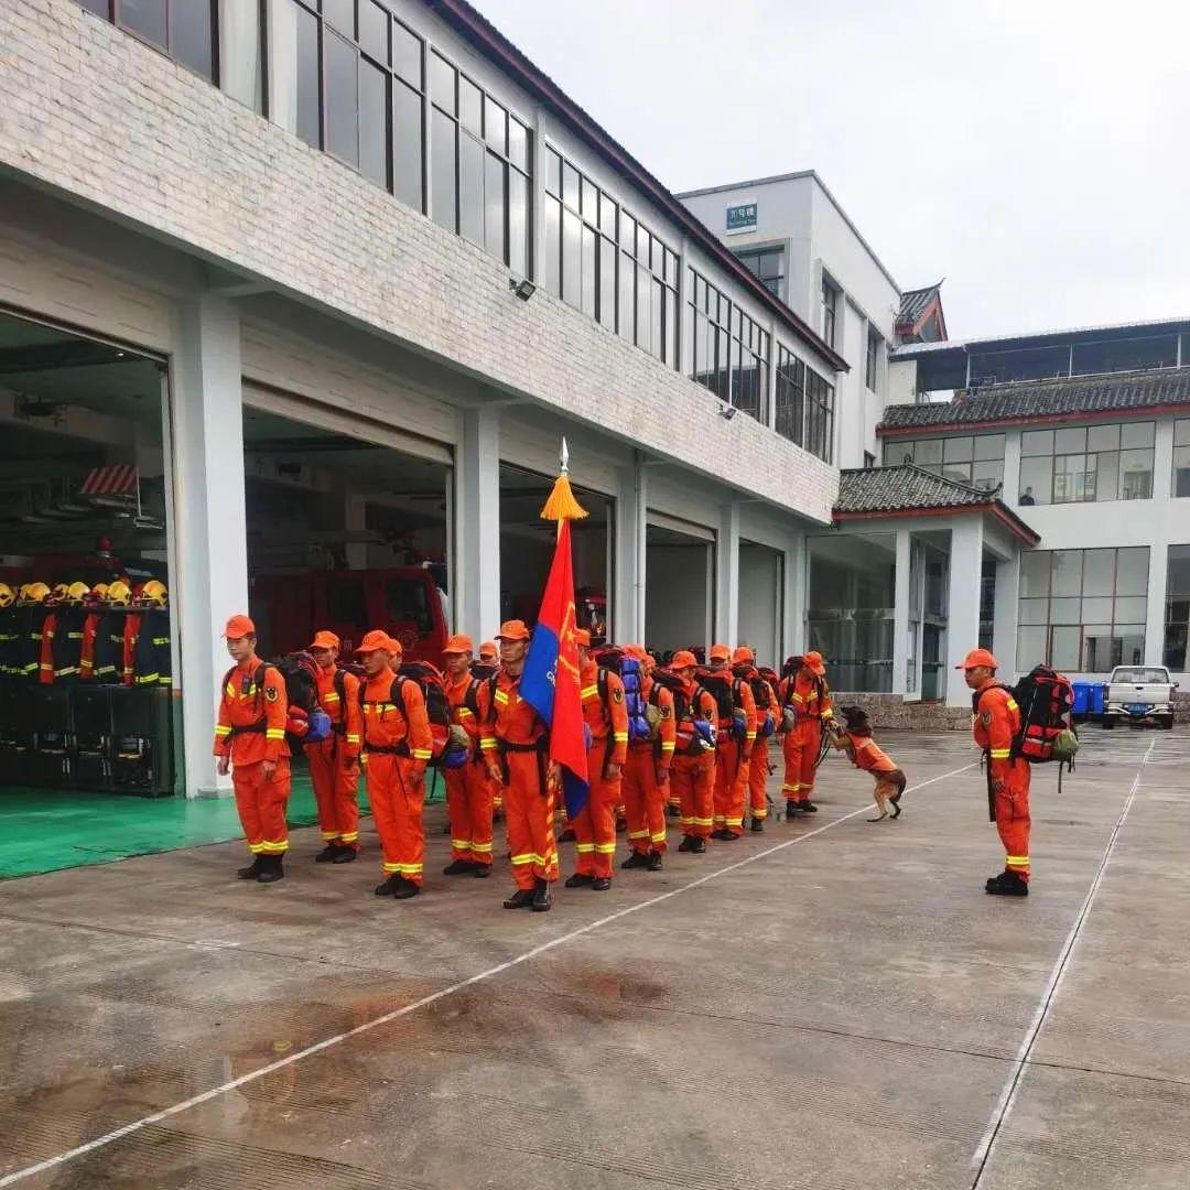
M 347 651 L 383 628 L 406 657 L 438 664 L 450 631 L 449 450 L 256 388 L 245 402 L 249 606 L 262 654 L 303 649 L 319 628 Z

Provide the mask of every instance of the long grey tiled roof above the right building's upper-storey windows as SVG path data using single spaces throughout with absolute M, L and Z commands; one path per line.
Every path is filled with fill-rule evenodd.
M 1190 368 L 994 384 L 953 401 L 890 405 L 881 432 L 1190 405 Z

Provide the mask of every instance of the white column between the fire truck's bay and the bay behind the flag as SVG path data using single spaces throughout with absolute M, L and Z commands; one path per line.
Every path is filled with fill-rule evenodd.
M 500 414 L 459 414 L 455 461 L 455 622 L 476 645 L 500 627 Z

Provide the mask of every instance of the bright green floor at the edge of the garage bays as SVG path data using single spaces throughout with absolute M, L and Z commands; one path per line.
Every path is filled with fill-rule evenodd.
M 359 808 L 367 812 L 362 787 Z M 428 793 L 430 801 L 443 800 L 440 777 Z M 286 818 L 292 827 L 318 821 L 305 774 L 294 774 Z M 240 833 L 231 797 L 192 801 L 10 788 L 0 790 L 0 879 L 226 843 Z

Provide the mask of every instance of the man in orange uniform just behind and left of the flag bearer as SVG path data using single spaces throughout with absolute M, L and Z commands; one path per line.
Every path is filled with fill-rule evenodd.
M 491 778 L 481 749 L 482 725 L 491 718 L 491 679 L 471 676 L 471 638 L 451 637 L 443 650 L 451 725 L 466 732 L 466 764 L 446 770 L 451 862 L 444 876 L 491 875 Z

